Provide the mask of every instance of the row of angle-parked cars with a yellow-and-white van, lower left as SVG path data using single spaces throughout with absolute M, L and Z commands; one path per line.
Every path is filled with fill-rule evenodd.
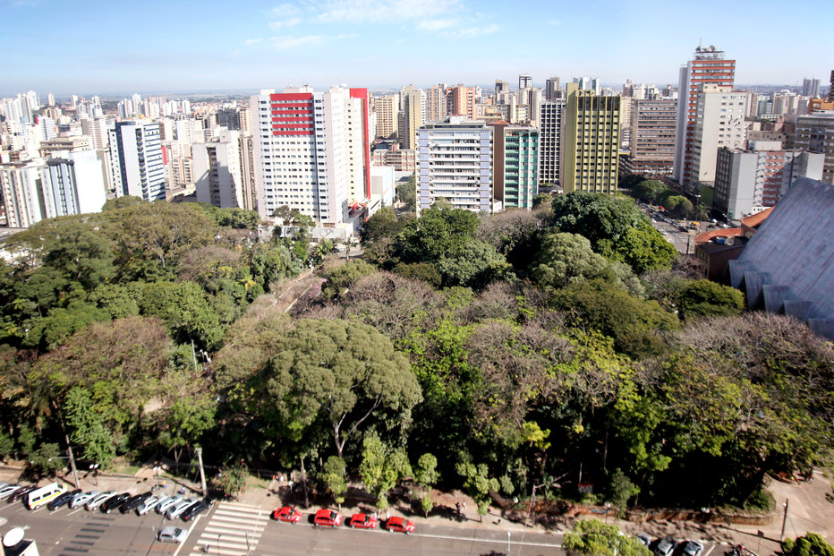
M 135 511 L 137 515 L 143 516 L 151 510 L 156 510 L 168 519 L 182 518 L 183 521 L 189 521 L 209 508 L 207 500 L 185 498 L 183 494 L 168 496 L 153 492 L 131 494 L 116 491 L 83 492 L 80 489 L 71 491 L 61 483 L 51 483 L 43 487 L 38 487 L 37 484 L 0 483 L 0 500 L 3 499 L 10 504 L 23 500 L 29 509 L 45 505 L 50 511 L 66 506 L 71 509 L 83 507 L 88 511 L 98 509 L 107 514 L 116 510 L 123 514 Z

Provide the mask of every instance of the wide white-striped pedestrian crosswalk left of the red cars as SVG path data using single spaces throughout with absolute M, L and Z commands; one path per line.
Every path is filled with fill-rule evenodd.
M 269 521 L 268 512 L 257 506 L 220 502 L 200 533 L 191 556 L 209 554 L 243 556 L 254 554 L 260 535 Z

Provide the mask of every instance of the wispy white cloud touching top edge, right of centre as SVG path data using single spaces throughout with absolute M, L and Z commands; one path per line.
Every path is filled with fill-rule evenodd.
M 335 21 L 396 23 L 452 13 L 460 4 L 461 0 L 323 0 L 313 5 L 319 8 L 316 20 L 322 23 Z

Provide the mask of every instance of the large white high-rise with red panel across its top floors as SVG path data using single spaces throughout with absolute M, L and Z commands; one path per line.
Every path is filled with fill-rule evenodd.
M 262 90 L 251 97 L 251 113 L 261 218 L 286 205 L 317 227 L 338 227 L 368 200 L 367 90 Z

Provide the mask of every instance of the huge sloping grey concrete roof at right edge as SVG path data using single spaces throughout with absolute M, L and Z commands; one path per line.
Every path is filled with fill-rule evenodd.
M 796 181 L 738 258 L 784 299 L 813 304 L 812 318 L 834 320 L 834 185 Z

